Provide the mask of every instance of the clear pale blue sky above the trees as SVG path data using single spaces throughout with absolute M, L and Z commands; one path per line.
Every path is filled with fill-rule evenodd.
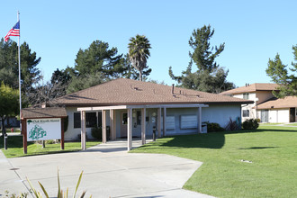
M 26 41 L 41 58 L 38 68 L 47 81 L 57 68 L 74 67 L 78 50 L 94 40 L 126 54 L 130 38 L 145 35 L 152 47 L 148 78 L 171 85 L 176 82 L 168 67 L 175 76 L 181 75 L 190 61 L 188 40 L 193 30 L 210 24 L 211 46 L 225 43 L 216 62 L 229 69 L 228 81 L 237 86 L 271 83 L 266 76 L 269 58 L 279 53 L 288 67 L 293 61 L 296 7 L 295 0 L 3 1 L 0 38 L 17 22 L 19 11 L 21 43 Z

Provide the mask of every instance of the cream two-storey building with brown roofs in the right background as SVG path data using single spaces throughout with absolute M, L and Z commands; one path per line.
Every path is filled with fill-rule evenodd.
M 297 97 L 287 96 L 284 99 L 277 99 L 273 94 L 276 89 L 276 84 L 255 83 L 220 94 L 255 102 L 242 105 L 242 121 L 251 118 L 260 119 L 261 122 L 297 121 Z

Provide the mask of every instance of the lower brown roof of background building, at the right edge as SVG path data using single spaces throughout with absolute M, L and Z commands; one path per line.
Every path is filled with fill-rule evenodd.
M 265 103 L 260 103 L 257 105 L 257 109 L 282 109 L 292 107 L 297 107 L 297 96 L 287 96 L 283 99 L 273 98 Z

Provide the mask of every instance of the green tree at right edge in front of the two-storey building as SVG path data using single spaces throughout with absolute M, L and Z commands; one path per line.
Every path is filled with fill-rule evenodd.
M 297 45 L 293 46 L 293 56 L 295 62 L 292 62 L 293 68 L 289 68 L 291 73 L 283 64 L 279 54 L 276 54 L 275 59 L 269 58 L 268 60 L 266 74 L 279 85 L 278 90 L 274 91 L 276 97 L 284 98 L 288 95 L 297 95 Z

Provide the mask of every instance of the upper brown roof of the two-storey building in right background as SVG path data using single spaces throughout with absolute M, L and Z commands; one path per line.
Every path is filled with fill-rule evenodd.
M 256 91 L 273 91 L 276 90 L 277 84 L 273 83 L 254 83 L 252 85 L 247 86 L 240 86 L 235 89 L 231 89 L 226 92 L 222 92 L 220 94 L 241 94 L 241 93 L 250 93 L 250 92 L 256 92 Z

